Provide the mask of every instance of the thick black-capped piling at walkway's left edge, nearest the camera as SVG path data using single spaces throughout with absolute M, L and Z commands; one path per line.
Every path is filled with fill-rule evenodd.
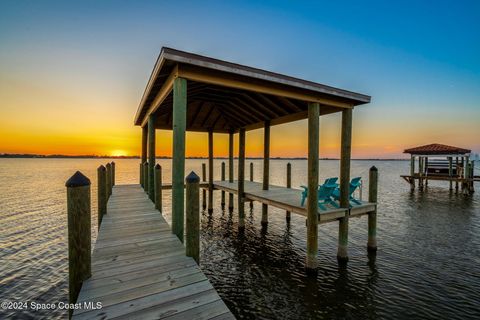
M 83 281 L 91 272 L 90 180 L 77 171 L 65 183 L 68 216 L 69 302 L 76 303 Z M 71 310 L 69 315 L 72 315 Z

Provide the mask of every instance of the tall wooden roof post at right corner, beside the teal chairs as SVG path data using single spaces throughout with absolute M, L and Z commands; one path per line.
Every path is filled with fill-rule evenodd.
M 340 218 L 338 227 L 337 259 L 348 260 L 348 219 L 350 214 L 350 158 L 352 146 L 352 109 L 342 111 L 342 141 L 340 151 L 340 207 L 348 210 L 345 217 Z M 309 189 L 310 190 L 310 189 Z

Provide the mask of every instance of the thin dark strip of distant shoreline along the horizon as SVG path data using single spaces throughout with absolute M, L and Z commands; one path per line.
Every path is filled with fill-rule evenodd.
M 140 159 L 140 156 L 96 156 L 96 155 L 76 155 L 76 156 L 69 156 L 69 155 L 62 155 L 62 154 L 51 154 L 51 155 L 41 155 L 41 154 L 13 154 L 13 153 L 3 153 L 0 154 L 0 158 L 6 159 Z M 156 157 L 156 159 L 172 159 L 171 157 Z M 208 160 L 208 157 L 186 157 L 186 159 L 204 159 Z M 214 159 L 228 159 L 228 157 L 214 157 Z M 234 157 L 234 159 L 238 159 L 238 157 Z M 262 157 L 246 157 L 249 160 L 262 160 Z M 270 160 L 307 160 L 306 157 L 274 157 L 270 158 Z M 319 158 L 319 160 L 340 160 L 339 158 Z M 372 159 L 355 159 L 352 160 L 361 160 L 361 161 L 409 161 L 410 159 L 399 159 L 399 158 L 391 158 L 391 159 L 379 159 L 379 158 L 372 158 Z

